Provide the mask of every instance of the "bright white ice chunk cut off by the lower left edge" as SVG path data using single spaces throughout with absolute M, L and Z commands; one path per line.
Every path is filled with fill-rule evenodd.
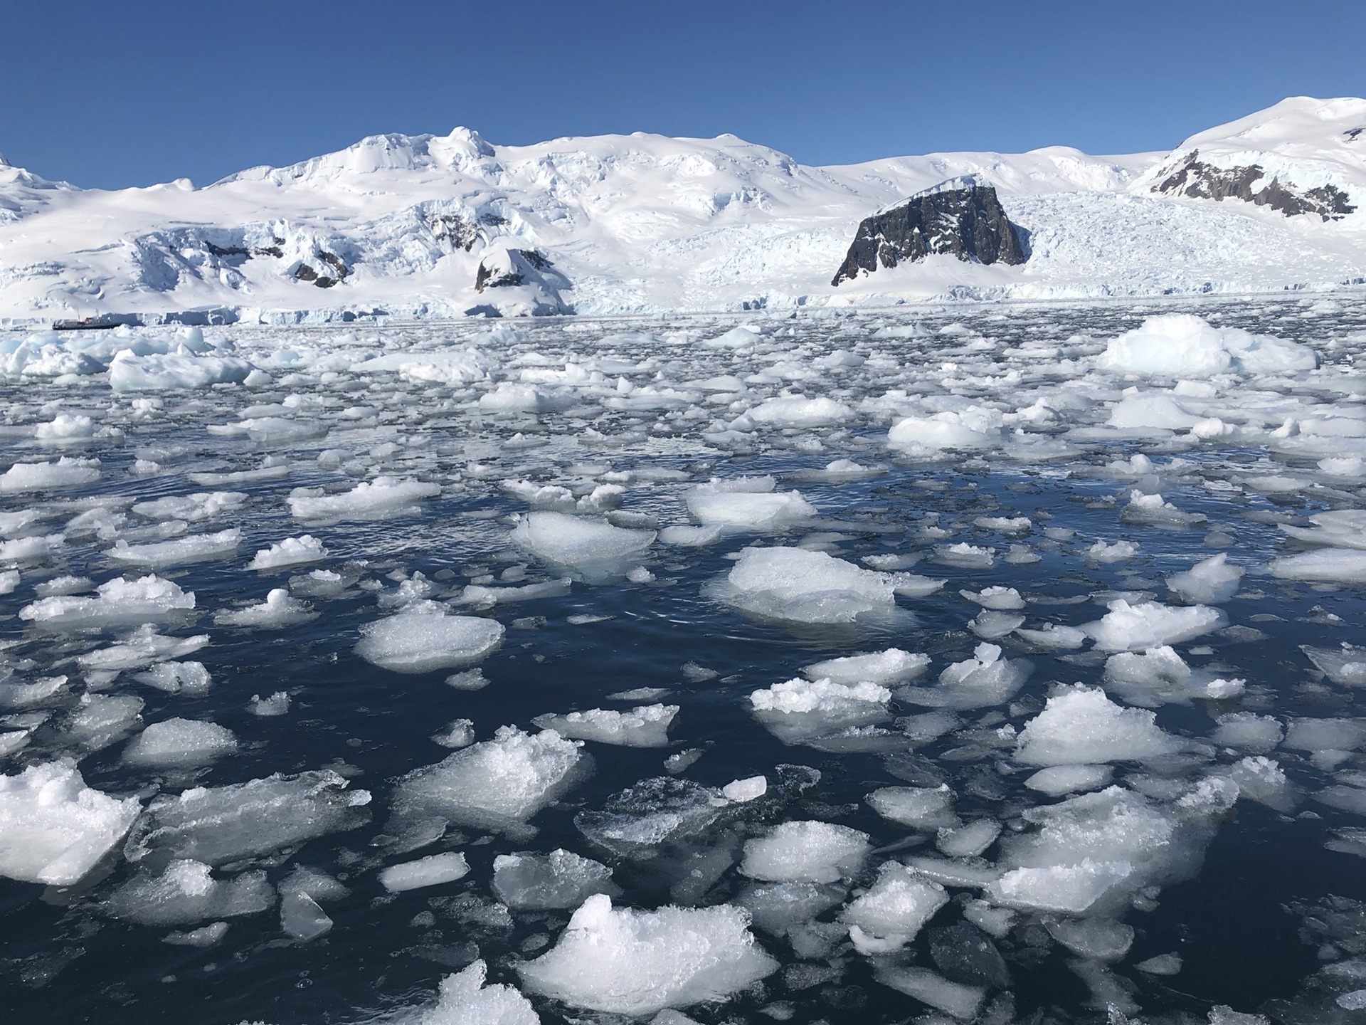
M 85 784 L 67 758 L 0 776 L 0 876 L 70 886 L 123 839 L 142 804 Z

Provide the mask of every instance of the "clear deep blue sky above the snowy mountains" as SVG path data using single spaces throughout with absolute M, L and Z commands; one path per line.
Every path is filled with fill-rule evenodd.
M 1366 3 L 0 0 L 0 153 L 204 184 L 382 131 L 734 133 L 802 163 L 1168 149 L 1366 94 Z

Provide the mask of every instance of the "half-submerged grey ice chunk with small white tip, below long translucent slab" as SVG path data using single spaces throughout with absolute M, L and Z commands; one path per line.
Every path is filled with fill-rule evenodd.
M 275 905 L 265 872 L 214 879 L 201 861 L 175 860 L 156 876 L 134 876 L 115 890 L 102 909 L 138 925 L 189 925 L 205 918 L 258 914 Z

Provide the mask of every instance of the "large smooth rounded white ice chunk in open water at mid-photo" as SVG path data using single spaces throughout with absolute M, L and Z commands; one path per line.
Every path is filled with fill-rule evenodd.
M 897 578 L 803 548 L 746 548 L 713 593 L 764 619 L 850 623 L 896 607 Z

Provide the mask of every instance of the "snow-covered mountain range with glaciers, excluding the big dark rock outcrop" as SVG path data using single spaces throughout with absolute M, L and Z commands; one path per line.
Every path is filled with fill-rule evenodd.
M 1018 266 L 930 256 L 832 286 L 859 223 L 993 186 Z M 0 161 L 0 320 L 646 313 L 1366 282 L 1366 100 L 1295 97 L 1169 153 L 805 167 L 734 135 L 494 146 L 373 135 L 206 187 L 85 190 Z

